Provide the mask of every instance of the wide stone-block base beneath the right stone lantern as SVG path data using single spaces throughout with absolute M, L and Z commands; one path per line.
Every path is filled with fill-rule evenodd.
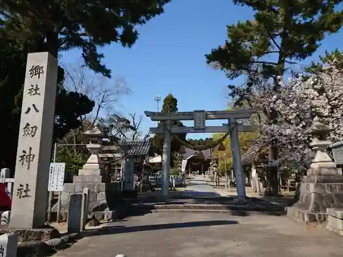
M 301 223 L 327 221 L 327 208 L 343 208 L 343 175 L 336 168 L 308 169 L 287 216 Z

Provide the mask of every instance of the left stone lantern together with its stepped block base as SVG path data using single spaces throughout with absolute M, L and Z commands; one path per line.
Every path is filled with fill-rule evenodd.
M 88 213 L 95 215 L 98 220 L 110 220 L 120 195 L 121 186 L 118 182 L 110 182 L 110 175 L 99 159 L 99 152 L 104 147 L 102 131 L 98 127 L 94 127 L 93 130 L 84 132 L 84 136 L 89 138 L 89 144 L 86 147 L 91 152 L 91 156 L 80 169 L 79 174 L 74 176 L 73 183 L 64 184 L 61 213 L 68 211 L 71 194 L 82 193 L 84 188 L 88 188 Z M 56 211 L 57 206 L 58 204 L 55 204 L 52 210 Z

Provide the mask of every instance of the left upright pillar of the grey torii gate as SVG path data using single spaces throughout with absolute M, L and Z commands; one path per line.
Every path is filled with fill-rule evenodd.
M 170 173 L 170 153 L 171 153 L 171 126 L 170 121 L 167 120 L 164 123 L 164 142 L 163 142 L 163 154 L 162 154 L 162 183 L 161 193 L 162 196 L 168 196 L 169 190 L 169 173 Z

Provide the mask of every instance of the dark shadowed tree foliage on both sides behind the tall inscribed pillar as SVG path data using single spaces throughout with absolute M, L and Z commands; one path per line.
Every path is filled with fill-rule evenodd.
M 19 136 L 23 84 L 27 52 L 21 45 L 7 38 L 0 38 L 0 134 L 6 147 L 0 149 L 0 167 L 14 171 L 16 147 Z M 91 112 L 94 102 L 85 95 L 67 92 L 63 86 L 63 69 L 58 69 L 58 95 L 54 126 L 55 138 L 80 125 L 78 117 Z

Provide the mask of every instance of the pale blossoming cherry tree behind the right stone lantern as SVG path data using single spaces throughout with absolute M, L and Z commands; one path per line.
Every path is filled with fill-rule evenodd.
M 259 113 L 259 138 L 247 154 L 257 155 L 270 143 L 279 147 L 279 158 L 267 165 L 292 165 L 297 171 L 305 171 L 313 158 L 308 134 L 315 117 L 334 127 L 329 135 L 333 142 L 343 139 L 343 69 L 338 60 L 327 60 L 315 73 L 298 74 L 286 83 L 280 79 L 281 90 L 275 93 L 272 85 L 258 78 L 256 90 L 248 95 L 248 102 Z M 270 112 L 278 112 L 270 121 Z

